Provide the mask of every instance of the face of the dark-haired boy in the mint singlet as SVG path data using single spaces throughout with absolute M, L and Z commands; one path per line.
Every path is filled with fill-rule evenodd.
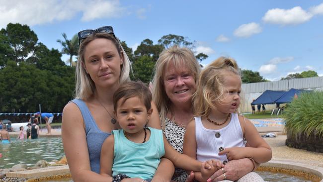
M 130 97 L 121 104 L 123 101 L 123 98 L 118 100 L 115 112 L 120 127 L 132 134 L 141 131 L 150 119 L 153 109 L 147 111 L 145 104 L 138 96 Z

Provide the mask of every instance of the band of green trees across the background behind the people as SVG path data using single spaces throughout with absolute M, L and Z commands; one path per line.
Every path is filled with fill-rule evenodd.
M 38 41 L 37 35 L 28 25 L 9 23 L 0 30 L 0 111 L 1 112 L 36 112 L 42 105 L 45 112 L 62 112 L 64 105 L 74 96 L 75 68 L 62 61 L 62 54 L 77 56 L 79 42 L 77 36 L 68 39 L 65 33 L 61 43 L 62 50 L 48 49 Z M 153 77 L 153 69 L 164 48 L 173 45 L 185 46 L 194 50 L 194 41 L 188 38 L 168 34 L 162 36 L 157 44 L 145 39 L 136 50 L 129 48 L 120 40 L 125 53 L 131 60 L 133 80 L 149 83 Z M 134 52 L 133 52 L 134 51 Z M 194 52 L 194 51 L 193 51 Z M 198 61 L 208 58 L 199 53 Z M 317 76 L 308 71 L 302 77 Z M 242 82 L 253 83 L 265 81 L 258 72 L 242 70 Z

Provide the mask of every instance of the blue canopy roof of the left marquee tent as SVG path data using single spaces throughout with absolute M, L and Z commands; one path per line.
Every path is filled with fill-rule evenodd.
M 264 91 L 257 99 L 251 102 L 251 105 L 255 104 L 274 104 L 275 101 L 280 98 L 287 91 Z

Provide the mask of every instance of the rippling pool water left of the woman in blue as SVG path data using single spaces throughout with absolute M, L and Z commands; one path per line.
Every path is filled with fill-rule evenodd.
M 0 168 L 11 168 L 16 164 L 34 166 L 39 160 L 51 162 L 65 156 L 62 138 L 49 137 L 33 140 L 16 140 L 11 138 L 10 144 L 0 143 Z

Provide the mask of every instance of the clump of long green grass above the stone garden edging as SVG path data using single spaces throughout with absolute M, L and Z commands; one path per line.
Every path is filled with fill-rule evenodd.
M 323 91 L 303 92 L 286 107 L 285 127 L 291 136 L 323 136 Z

